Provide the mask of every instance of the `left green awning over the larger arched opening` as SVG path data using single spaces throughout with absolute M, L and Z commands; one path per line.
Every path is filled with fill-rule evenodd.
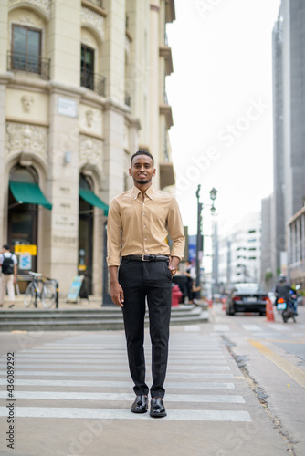
M 9 181 L 9 188 L 20 204 L 41 204 L 49 210 L 52 209 L 52 204 L 47 201 L 37 183 Z

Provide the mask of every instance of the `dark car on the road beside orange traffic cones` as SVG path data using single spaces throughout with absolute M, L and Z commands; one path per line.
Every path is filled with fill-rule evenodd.
M 236 284 L 226 298 L 226 315 L 236 312 L 266 314 L 268 295 L 258 284 Z

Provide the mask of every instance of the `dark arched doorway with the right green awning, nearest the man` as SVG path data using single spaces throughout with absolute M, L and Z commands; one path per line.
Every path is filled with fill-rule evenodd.
M 80 174 L 79 189 L 92 191 L 89 176 Z M 79 275 L 85 276 L 87 292 L 92 295 L 93 206 L 79 197 Z

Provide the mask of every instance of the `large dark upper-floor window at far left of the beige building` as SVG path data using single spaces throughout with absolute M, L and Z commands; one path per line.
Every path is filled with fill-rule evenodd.
M 29 73 L 41 72 L 41 31 L 26 26 L 13 26 L 12 69 Z

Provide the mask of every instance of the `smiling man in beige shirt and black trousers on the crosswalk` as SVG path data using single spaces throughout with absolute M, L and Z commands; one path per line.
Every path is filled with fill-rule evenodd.
M 184 227 L 178 204 L 169 193 L 153 188 L 153 156 L 138 150 L 131 157 L 133 188 L 113 198 L 108 216 L 108 266 L 110 295 L 121 306 L 131 378 L 136 399 L 133 413 L 148 409 L 145 383 L 144 315 L 147 298 L 152 341 L 152 417 L 166 416 L 163 404 L 172 277 L 184 254 Z M 170 251 L 166 238 L 170 233 Z M 121 258 L 120 258 L 121 257 Z M 120 265 L 121 260 L 121 265 Z M 119 277 L 118 277 L 118 267 Z

